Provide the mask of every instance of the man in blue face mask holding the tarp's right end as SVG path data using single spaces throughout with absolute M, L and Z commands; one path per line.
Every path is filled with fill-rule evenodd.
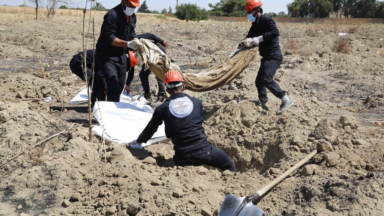
M 260 0 L 247 0 L 245 4 L 248 20 L 252 22 L 246 38 L 252 39 L 251 46 L 259 46 L 260 56 L 263 57 L 255 80 L 260 103 L 263 107 L 266 107 L 268 101 L 266 89 L 268 88 L 273 95 L 281 99 L 280 109 L 276 112 L 276 115 L 280 115 L 288 110 L 293 102 L 286 96 L 285 91 L 281 90 L 279 84 L 273 80 L 277 68 L 283 62 L 278 38 L 280 34 L 275 21 L 271 17 L 262 14 L 262 5 L 263 3 Z M 232 53 L 232 56 L 236 55 L 240 48 L 242 48 L 241 45 Z

